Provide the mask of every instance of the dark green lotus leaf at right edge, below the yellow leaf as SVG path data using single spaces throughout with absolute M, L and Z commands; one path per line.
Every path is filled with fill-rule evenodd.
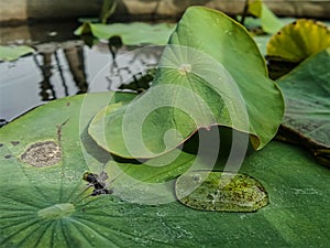
M 292 73 L 282 77 L 278 85 L 284 93 L 286 111 L 283 125 L 286 140 L 310 149 L 330 164 L 330 48 L 302 62 Z M 285 133 L 284 133 L 285 134 Z M 327 161 L 327 162 L 326 162 Z

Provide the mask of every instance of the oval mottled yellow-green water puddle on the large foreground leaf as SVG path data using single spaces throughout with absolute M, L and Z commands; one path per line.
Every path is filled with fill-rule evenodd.
M 191 171 L 175 184 L 177 198 L 199 211 L 254 212 L 268 204 L 263 185 L 251 176 Z

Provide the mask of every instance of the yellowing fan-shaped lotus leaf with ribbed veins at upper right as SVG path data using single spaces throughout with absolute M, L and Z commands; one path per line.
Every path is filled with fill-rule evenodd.
M 329 28 L 314 20 L 299 19 L 285 25 L 267 44 L 267 55 L 298 63 L 330 46 Z

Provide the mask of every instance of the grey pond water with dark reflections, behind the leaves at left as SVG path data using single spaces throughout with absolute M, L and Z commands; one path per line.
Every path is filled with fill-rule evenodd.
M 88 46 L 74 36 L 74 29 L 73 23 L 1 28 L 1 44 L 29 44 L 36 52 L 15 62 L 0 63 L 0 126 L 50 100 L 117 90 L 155 67 L 163 48 L 110 48 L 108 41 Z

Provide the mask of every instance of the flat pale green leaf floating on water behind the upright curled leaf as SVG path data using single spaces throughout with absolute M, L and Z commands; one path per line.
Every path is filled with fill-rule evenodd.
M 101 24 L 85 22 L 76 31 L 76 35 L 91 33 L 98 39 L 120 36 L 125 45 L 167 43 L 175 25 L 167 23 L 147 24 L 144 22 Z

